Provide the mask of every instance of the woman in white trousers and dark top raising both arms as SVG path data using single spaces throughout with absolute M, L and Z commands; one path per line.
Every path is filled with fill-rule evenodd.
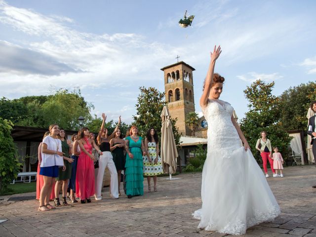
M 96 200 L 102 199 L 101 191 L 102 191 L 102 184 L 103 184 L 103 176 L 104 176 L 106 167 L 109 168 L 110 173 L 111 173 L 111 184 L 110 184 L 111 197 L 118 198 L 118 172 L 117 172 L 117 168 L 115 167 L 113 156 L 110 151 L 110 140 L 115 136 L 115 133 L 120 124 L 120 117 L 118 118 L 117 127 L 115 128 L 114 132 L 110 136 L 108 136 L 108 129 L 104 129 L 104 123 L 107 118 L 104 113 L 102 114 L 102 118 L 103 118 L 103 121 L 101 125 L 101 130 L 97 137 L 97 141 L 103 155 L 99 157 L 99 170 L 98 170 L 98 175 L 97 175 L 96 184 L 95 184 L 95 187 L 96 187 L 95 199 Z

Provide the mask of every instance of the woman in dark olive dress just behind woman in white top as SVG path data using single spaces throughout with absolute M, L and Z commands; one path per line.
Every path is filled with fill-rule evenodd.
M 59 175 L 56 178 L 56 184 L 55 184 L 55 206 L 61 206 L 59 201 L 59 192 L 60 192 L 60 184 L 63 183 L 62 186 L 62 192 L 63 192 L 63 205 L 68 205 L 66 201 L 66 195 L 67 195 L 67 188 L 68 188 L 68 180 L 71 178 L 71 170 L 72 170 L 72 162 L 74 162 L 74 159 L 70 158 L 70 150 L 69 145 L 67 143 L 66 139 L 66 133 L 65 130 L 60 128 L 59 129 L 59 139 L 61 140 L 61 148 L 63 151 L 63 158 L 64 158 L 64 164 L 66 166 L 66 170 L 62 170 L 59 168 Z

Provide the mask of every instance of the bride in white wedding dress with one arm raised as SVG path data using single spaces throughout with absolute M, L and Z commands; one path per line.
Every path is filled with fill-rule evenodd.
M 233 107 L 219 97 L 224 78 L 214 74 L 221 47 L 214 47 L 200 106 L 208 123 L 207 158 L 202 171 L 198 228 L 243 235 L 247 228 L 280 214 L 266 178 L 233 118 Z M 240 139 L 243 143 L 241 146 Z

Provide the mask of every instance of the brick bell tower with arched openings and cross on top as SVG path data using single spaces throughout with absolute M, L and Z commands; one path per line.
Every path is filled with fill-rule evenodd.
M 179 133 L 191 136 L 186 125 L 186 115 L 195 112 L 193 92 L 193 67 L 183 61 L 160 69 L 164 73 L 164 91 L 171 118 L 178 118 Z

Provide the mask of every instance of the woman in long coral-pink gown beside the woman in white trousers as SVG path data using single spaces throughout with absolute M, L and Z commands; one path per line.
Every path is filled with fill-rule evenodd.
M 80 147 L 80 155 L 77 164 L 76 176 L 76 197 L 80 198 L 81 203 L 91 202 L 90 197 L 94 195 L 94 156 L 92 155 L 92 147 L 102 152 L 95 144 L 94 140 L 89 139 L 89 129 L 82 127 L 79 131 L 80 139 L 78 141 Z

